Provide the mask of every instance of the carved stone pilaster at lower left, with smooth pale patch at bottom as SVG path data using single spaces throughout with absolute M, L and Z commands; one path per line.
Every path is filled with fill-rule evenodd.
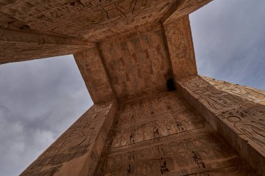
M 114 120 L 116 107 L 115 102 L 93 105 L 21 176 L 93 175 Z

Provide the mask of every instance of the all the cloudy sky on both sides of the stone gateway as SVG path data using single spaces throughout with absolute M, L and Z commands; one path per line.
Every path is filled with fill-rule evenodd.
M 190 15 L 199 74 L 265 90 L 265 1 Z M 92 101 L 73 56 L 0 65 L 0 175 L 19 175 Z

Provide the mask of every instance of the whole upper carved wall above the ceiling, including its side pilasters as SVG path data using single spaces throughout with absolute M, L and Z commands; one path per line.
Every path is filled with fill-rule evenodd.
M 42 36 L 99 42 L 139 28 L 188 15 L 209 0 L 19 0 L 0 1 L 0 34 L 21 33 L 1 40 L 0 63 L 74 54 L 77 45 L 42 43 Z M 184 9 L 184 10 L 183 10 Z M 173 17 L 174 16 L 174 17 Z M 177 17 L 175 17 L 177 16 Z M 181 17 L 182 17 L 181 16 Z M 37 42 L 20 43 L 21 38 Z M 6 36 L 4 36 L 6 38 Z M 8 36 L 9 38 L 10 36 Z M 43 45 L 42 45 L 43 44 Z M 91 46 L 88 42 L 87 45 Z M 164 45 L 161 43 L 161 45 Z

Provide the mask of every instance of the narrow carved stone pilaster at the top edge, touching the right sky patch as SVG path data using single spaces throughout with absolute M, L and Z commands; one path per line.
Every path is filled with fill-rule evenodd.
M 179 0 L 168 10 L 161 21 L 162 23 L 169 22 L 189 15 L 211 1 L 212 0 Z

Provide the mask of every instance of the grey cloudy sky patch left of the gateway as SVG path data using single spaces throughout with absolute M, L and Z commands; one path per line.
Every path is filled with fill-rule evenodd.
M 0 175 L 19 175 L 93 104 L 73 56 L 0 65 Z

